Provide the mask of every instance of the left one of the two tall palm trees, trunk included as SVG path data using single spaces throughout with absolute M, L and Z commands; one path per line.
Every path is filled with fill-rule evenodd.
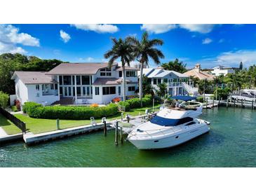
M 108 50 L 104 57 L 106 59 L 110 58 L 109 67 L 112 67 L 113 62 L 120 57 L 123 77 L 123 101 L 126 101 L 126 64 L 130 66 L 130 62 L 134 60 L 133 46 L 127 38 L 124 40 L 112 38 L 112 42 L 112 49 Z

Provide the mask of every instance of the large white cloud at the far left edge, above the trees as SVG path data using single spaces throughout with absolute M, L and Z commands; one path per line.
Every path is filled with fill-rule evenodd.
M 20 33 L 13 25 L 0 25 L 0 53 L 27 53 L 17 46 L 40 46 L 39 39 L 30 34 Z

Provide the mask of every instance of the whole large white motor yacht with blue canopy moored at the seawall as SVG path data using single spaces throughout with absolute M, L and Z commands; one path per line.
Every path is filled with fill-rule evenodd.
M 179 108 L 162 109 L 151 121 L 139 125 L 129 133 L 128 140 L 137 149 L 176 146 L 210 130 L 207 121 L 196 118 L 202 114 L 203 104 L 188 101 L 189 96 L 177 97 L 179 100 L 186 97 L 187 102 L 182 102 Z

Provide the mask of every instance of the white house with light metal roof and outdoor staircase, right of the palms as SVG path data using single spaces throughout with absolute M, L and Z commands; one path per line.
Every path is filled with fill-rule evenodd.
M 169 95 L 197 95 L 198 88 L 194 88 L 189 76 L 176 71 L 164 70 L 162 67 L 143 69 L 143 75 L 149 78 L 154 89 L 158 90 L 158 84 L 166 83 Z

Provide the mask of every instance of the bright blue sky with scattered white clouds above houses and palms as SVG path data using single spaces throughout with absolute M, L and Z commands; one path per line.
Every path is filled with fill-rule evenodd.
M 112 47 L 111 37 L 140 39 L 145 31 L 150 38 L 163 39 L 161 62 L 178 58 L 187 67 L 201 63 L 203 68 L 256 63 L 256 25 L 0 25 L 0 53 L 102 62 Z

